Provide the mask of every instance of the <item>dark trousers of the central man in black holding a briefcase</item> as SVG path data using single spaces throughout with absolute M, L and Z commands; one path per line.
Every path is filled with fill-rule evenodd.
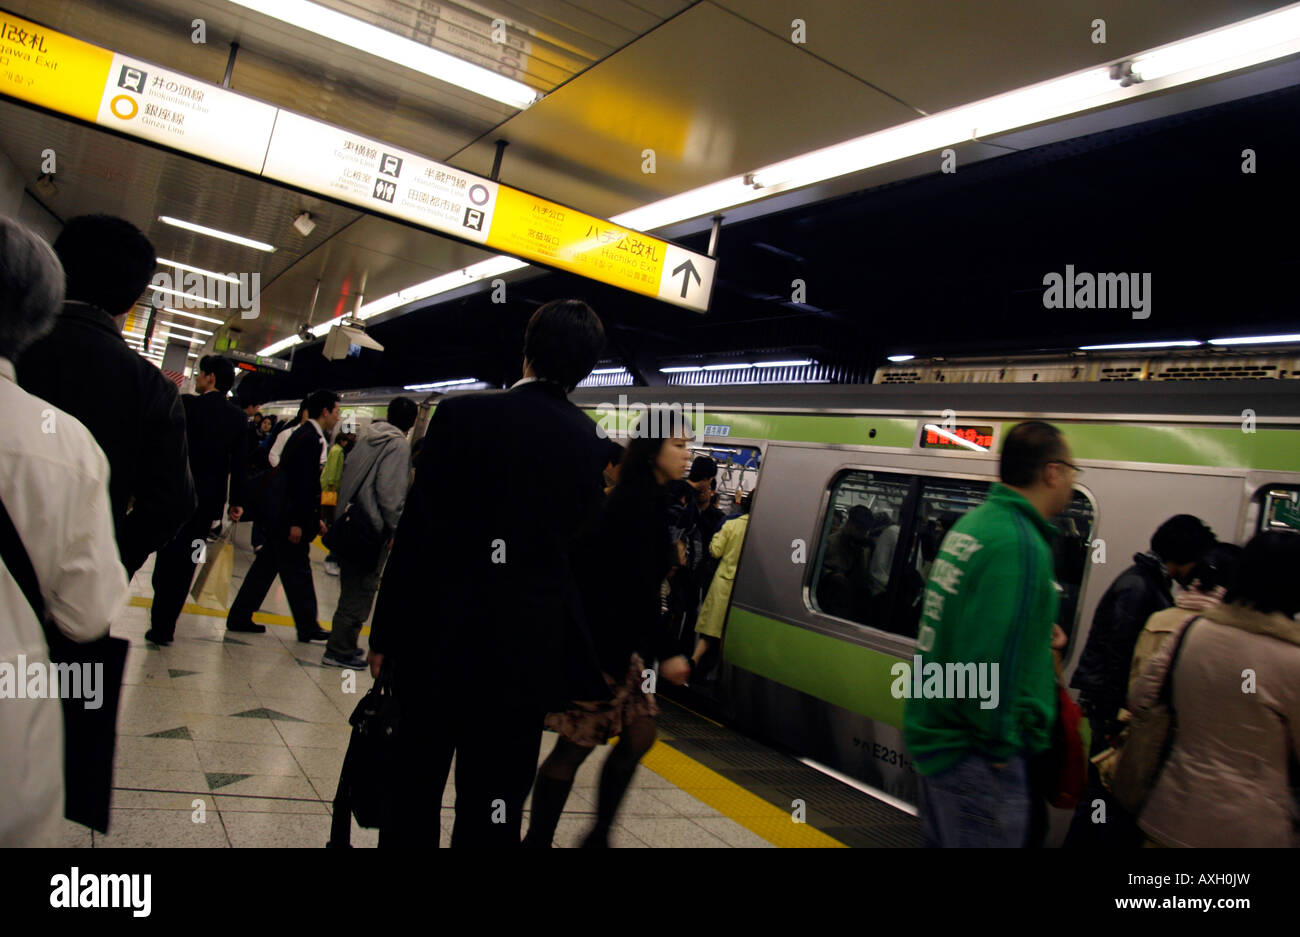
M 545 712 L 524 706 L 467 706 L 464 697 L 412 711 L 411 693 L 428 694 L 432 680 L 402 706 L 402 742 L 387 821 L 380 846 L 430 849 L 439 842 L 442 791 L 456 758 L 456 820 L 452 849 L 519 849 L 524 801 L 537 773 Z

